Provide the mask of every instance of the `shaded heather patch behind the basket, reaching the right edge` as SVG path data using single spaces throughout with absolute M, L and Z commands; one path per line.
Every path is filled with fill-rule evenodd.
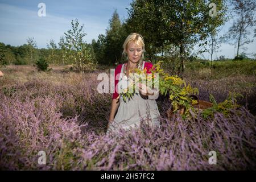
M 252 76 L 234 76 L 220 80 L 194 80 L 190 77 L 184 79 L 192 87 L 199 89 L 200 100 L 209 101 L 209 94 L 212 94 L 216 101 L 223 102 L 229 92 L 241 94 L 238 97 L 238 104 L 246 106 L 254 115 L 256 114 L 256 78 Z

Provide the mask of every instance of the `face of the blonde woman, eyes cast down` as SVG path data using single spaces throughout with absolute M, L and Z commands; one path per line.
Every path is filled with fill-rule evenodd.
M 142 46 L 139 46 L 138 44 L 134 42 L 130 42 L 127 47 L 127 56 L 128 59 L 133 62 L 137 63 L 142 56 Z

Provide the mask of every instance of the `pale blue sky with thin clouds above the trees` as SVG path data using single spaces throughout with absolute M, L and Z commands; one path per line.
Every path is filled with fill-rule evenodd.
M 38 4 L 46 4 L 46 16 L 38 16 Z M 109 26 L 114 9 L 117 9 L 119 18 L 127 18 L 127 10 L 132 0 L 73 0 L 73 1 L 14 1 L 0 0 L 0 42 L 12 46 L 20 46 L 26 43 L 28 37 L 34 37 L 39 48 L 46 48 L 50 39 L 59 42 L 60 36 L 71 28 L 71 20 L 79 19 L 84 24 L 87 43 L 96 39 L 99 34 L 105 34 Z M 233 20 L 226 23 L 222 32 L 228 30 Z M 253 39 L 253 29 L 250 35 Z M 246 53 L 256 53 L 256 40 L 248 44 Z M 196 47 L 195 47 L 196 49 Z M 214 53 L 214 57 L 225 55 L 233 58 L 236 54 L 234 46 L 221 44 L 220 52 Z M 209 59 L 208 53 L 203 55 Z M 251 57 L 251 56 L 249 56 Z

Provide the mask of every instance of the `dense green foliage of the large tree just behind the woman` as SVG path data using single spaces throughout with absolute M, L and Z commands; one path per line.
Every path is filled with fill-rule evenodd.
M 209 3 L 216 2 L 217 16 L 209 16 Z M 129 32 L 139 32 L 144 36 L 146 50 L 153 59 L 158 48 L 168 44 L 179 47 L 180 71 L 185 68 L 184 57 L 189 46 L 205 40 L 209 36 L 210 26 L 223 24 L 225 14 L 224 1 L 207 0 L 137 0 L 131 3 L 126 27 Z M 213 24 L 214 22 L 214 24 Z

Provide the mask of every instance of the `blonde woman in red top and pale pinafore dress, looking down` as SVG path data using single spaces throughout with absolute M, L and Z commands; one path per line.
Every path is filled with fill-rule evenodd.
M 152 64 L 143 61 L 144 52 L 144 40 L 140 34 L 133 33 L 127 36 L 123 43 L 123 56 L 126 56 L 127 63 L 119 64 L 115 68 L 115 88 L 118 88 L 118 83 L 126 81 L 126 78 L 129 77 L 129 71 L 134 73 L 134 68 L 142 70 L 146 68 L 147 73 L 151 73 Z M 119 128 L 130 129 L 140 127 L 141 119 L 150 119 L 151 126 L 160 126 L 160 113 L 155 101 L 158 98 L 158 90 L 150 89 L 143 84 L 138 86 L 139 94 L 135 93 L 133 98 L 129 101 L 126 100 L 126 102 L 122 96 L 119 97 L 117 90 L 115 90 L 112 97 L 107 133 L 118 131 Z M 115 115 L 116 111 L 117 114 Z

